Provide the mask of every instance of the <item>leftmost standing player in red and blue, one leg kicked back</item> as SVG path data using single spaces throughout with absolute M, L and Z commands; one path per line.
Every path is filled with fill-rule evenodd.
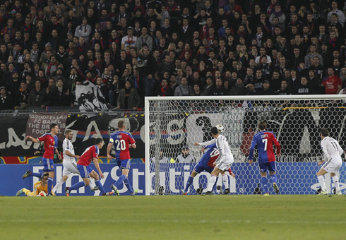
M 43 172 L 48 172 L 48 192 L 49 195 L 52 194 L 52 187 L 53 187 L 53 179 L 54 179 L 54 152 L 59 157 L 59 160 L 61 160 L 61 155 L 58 151 L 58 137 L 56 136 L 59 133 L 59 126 L 58 124 L 50 124 L 50 133 L 45 133 L 40 138 L 32 138 L 32 136 L 26 136 L 26 140 L 32 140 L 34 143 L 40 143 L 44 142 L 44 154 L 42 157 L 42 163 L 43 163 Z M 32 173 L 32 175 L 34 175 Z M 23 179 L 25 177 L 30 176 L 28 175 L 28 172 L 24 174 Z M 35 175 L 34 175 L 35 176 Z M 40 177 L 40 176 L 38 176 Z

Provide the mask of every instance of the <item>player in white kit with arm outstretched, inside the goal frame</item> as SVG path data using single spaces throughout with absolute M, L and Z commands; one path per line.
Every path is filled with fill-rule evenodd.
M 205 194 L 210 195 L 213 189 L 213 186 L 216 182 L 217 176 L 221 173 L 222 175 L 231 167 L 233 160 L 233 155 L 231 150 L 229 149 L 228 141 L 225 136 L 222 136 L 217 127 L 211 128 L 211 135 L 213 136 L 213 140 L 210 140 L 205 143 L 195 143 L 196 145 L 207 146 L 213 143 L 216 143 L 217 150 L 220 152 L 219 157 L 213 163 L 215 166 L 213 172 L 211 172 L 211 177 L 208 183 L 208 190 Z

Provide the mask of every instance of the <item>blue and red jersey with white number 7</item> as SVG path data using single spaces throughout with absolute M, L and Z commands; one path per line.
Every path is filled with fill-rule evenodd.
M 274 162 L 275 155 L 273 150 L 273 143 L 276 146 L 276 154 L 280 154 L 280 144 L 276 140 L 273 132 L 270 131 L 260 131 L 253 136 L 249 160 L 253 160 L 253 150 L 257 145 L 258 150 L 258 163 Z

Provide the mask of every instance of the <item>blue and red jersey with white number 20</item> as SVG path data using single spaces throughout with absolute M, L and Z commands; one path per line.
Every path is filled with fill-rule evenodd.
M 114 144 L 115 158 L 117 160 L 130 159 L 130 145 L 136 143 L 131 133 L 126 131 L 117 131 L 112 133 L 108 144 Z

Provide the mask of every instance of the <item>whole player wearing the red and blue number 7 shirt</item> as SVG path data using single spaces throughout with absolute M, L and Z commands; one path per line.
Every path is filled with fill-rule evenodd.
M 273 182 L 275 193 L 279 193 L 278 177 L 276 176 L 275 155 L 273 151 L 273 143 L 276 147 L 276 154 L 280 157 L 280 144 L 276 140 L 273 132 L 266 131 L 266 121 L 260 121 L 258 124 L 259 132 L 253 136 L 250 153 L 249 164 L 253 163 L 253 150 L 257 145 L 258 149 L 258 164 L 261 172 L 261 185 L 265 196 L 269 196 L 267 169 Z

